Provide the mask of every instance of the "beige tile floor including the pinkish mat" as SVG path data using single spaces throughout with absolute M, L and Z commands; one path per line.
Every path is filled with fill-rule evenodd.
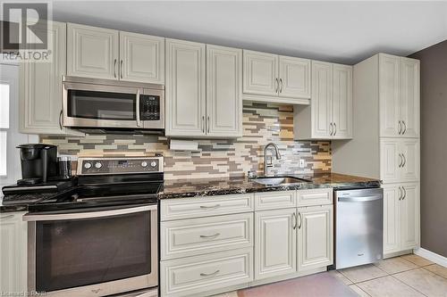
M 350 290 L 344 291 L 347 288 Z M 410 254 L 218 297 L 348 297 L 356 293 L 365 297 L 447 297 L 447 268 Z

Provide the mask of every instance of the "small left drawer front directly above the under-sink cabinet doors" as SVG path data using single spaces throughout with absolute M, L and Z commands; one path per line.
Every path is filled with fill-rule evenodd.
M 255 194 L 255 210 L 274 210 L 296 207 L 296 191 L 263 192 Z

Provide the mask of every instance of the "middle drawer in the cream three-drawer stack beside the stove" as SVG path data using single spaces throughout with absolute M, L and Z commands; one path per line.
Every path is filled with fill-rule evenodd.
M 161 259 L 253 246 L 253 212 L 160 224 Z

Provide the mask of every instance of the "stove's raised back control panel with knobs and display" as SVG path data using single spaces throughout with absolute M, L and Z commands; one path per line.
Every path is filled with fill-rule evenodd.
M 79 158 L 78 175 L 163 172 L 163 157 Z

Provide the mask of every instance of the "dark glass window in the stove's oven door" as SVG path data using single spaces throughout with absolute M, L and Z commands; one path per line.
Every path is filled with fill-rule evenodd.
M 36 289 L 55 291 L 150 274 L 150 217 L 150 211 L 143 211 L 38 221 Z

